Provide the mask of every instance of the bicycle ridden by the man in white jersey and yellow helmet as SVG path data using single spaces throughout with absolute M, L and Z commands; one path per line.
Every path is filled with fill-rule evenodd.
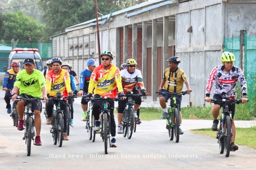
M 127 93 L 125 96 L 128 97 L 126 108 L 122 119 L 122 133 L 123 136 L 131 139 L 132 133 L 136 132 L 137 118 L 134 118 L 134 100 L 132 96 L 143 96 L 142 94 Z

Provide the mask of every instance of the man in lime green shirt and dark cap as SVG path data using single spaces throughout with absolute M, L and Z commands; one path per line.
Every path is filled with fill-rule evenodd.
M 32 58 L 26 58 L 23 62 L 24 70 L 18 72 L 16 81 L 13 88 L 12 99 L 17 98 L 17 92 L 19 90 L 20 96 L 23 98 L 41 98 L 48 101 L 45 88 L 45 79 L 41 71 L 35 68 L 35 62 Z M 41 111 L 42 105 L 40 101 L 32 101 L 32 111 L 35 113 L 35 145 L 42 145 L 40 132 L 41 132 Z M 26 103 L 20 100 L 17 103 L 17 112 L 19 114 L 20 120 L 17 129 L 24 129 L 24 111 Z

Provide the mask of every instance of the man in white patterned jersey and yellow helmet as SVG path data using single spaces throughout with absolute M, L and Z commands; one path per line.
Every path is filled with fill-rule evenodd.
M 124 90 L 124 93 L 131 93 L 133 94 L 140 94 L 139 90 L 137 89 L 137 85 L 141 89 L 142 94 L 148 94 L 145 92 L 145 87 L 143 83 L 143 78 L 141 71 L 136 69 L 137 67 L 137 62 L 135 59 L 127 59 L 125 62 L 125 66 L 127 69 L 124 69 L 120 71 L 121 79 L 122 79 L 122 87 Z M 141 104 L 141 97 L 140 96 L 132 96 L 132 99 L 135 101 L 134 104 L 134 118 L 137 118 L 137 109 L 140 107 Z M 125 100 L 119 100 L 118 101 L 118 113 L 117 113 L 117 118 L 118 118 L 118 128 L 117 128 L 117 133 L 122 133 L 122 117 L 123 113 L 125 110 L 125 104 L 126 104 L 127 99 Z

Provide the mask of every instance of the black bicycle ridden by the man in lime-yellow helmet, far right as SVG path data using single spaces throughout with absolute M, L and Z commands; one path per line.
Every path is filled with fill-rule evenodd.
M 221 113 L 221 121 L 220 126 L 217 130 L 217 139 L 219 144 L 219 150 L 221 154 L 225 154 L 226 157 L 230 155 L 230 139 L 233 137 L 232 135 L 232 112 L 228 111 L 228 105 L 232 103 L 240 104 L 241 99 L 212 99 L 210 103 L 222 102 L 224 105 L 222 106 L 223 110 Z M 248 101 L 247 101 L 248 102 Z M 232 150 L 236 151 L 236 150 Z

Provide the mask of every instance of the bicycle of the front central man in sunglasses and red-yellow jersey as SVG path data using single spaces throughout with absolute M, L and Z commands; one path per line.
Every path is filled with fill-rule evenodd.
M 108 143 L 109 143 L 109 147 L 111 147 L 110 110 L 108 109 L 108 105 L 109 105 L 108 100 L 118 101 L 118 98 L 100 97 L 100 98 L 92 98 L 87 100 L 90 100 L 91 102 L 94 102 L 94 101 L 102 102 L 102 110 L 101 110 L 102 130 L 101 130 L 100 136 L 102 137 L 102 142 L 104 142 L 105 154 L 108 154 Z

